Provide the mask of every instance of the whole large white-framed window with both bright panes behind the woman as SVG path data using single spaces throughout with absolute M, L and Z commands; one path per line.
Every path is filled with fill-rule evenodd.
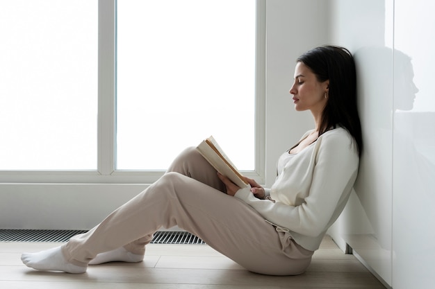
M 209 134 L 261 175 L 265 2 L 162 2 L 0 3 L 0 182 L 153 182 Z

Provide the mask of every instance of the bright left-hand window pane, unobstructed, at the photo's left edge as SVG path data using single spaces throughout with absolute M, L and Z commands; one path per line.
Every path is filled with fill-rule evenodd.
M 0 169 L 97 168 L 97 0 L 0 0 Z

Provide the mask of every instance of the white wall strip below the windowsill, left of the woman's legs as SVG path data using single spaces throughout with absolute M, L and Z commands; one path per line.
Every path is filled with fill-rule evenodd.
M 90 229 L 145 188 L 140 184 L 4 184 L 1 229 Z

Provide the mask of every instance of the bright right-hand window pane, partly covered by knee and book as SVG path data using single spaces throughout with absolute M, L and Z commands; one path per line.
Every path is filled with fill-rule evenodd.
M 117 1 L 118 170 L 164 170 L 212 134 L 254 170 L 255 5 Z

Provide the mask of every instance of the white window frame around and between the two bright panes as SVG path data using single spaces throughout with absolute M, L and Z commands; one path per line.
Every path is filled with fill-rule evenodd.
M 265 182 L 265 0 L 256 0 L 255 168 L 243 175 Z M 115 170 L 116 0 L 98 2 L 97 170 L 1 170 L 0 183 L 151 184 L 164 170 Z

